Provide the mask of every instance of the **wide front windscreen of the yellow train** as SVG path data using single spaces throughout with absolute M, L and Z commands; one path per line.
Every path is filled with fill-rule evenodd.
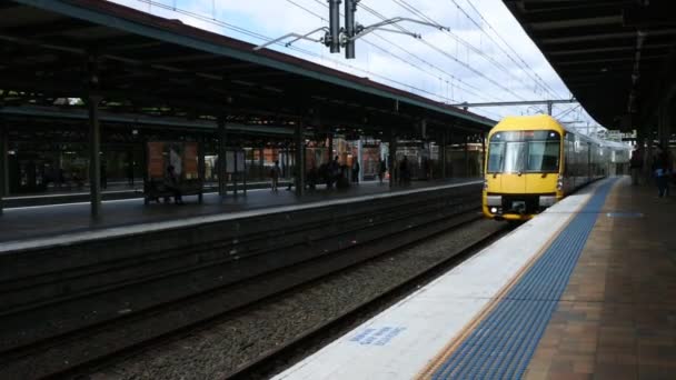
M 559 163 L 556 131 L 506 131 L 490 137 L 488 173 L 558 172 Z

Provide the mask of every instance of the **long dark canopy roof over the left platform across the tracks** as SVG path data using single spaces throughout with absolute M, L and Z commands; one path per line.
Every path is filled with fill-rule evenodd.
M 101 0 L 0 2 L 0 51 L 6 108 L 63 106 L 96 91 L 106 112 L 158 118 L 304 120 L 310 130 L 349 126 L 364 134 L 390 128 L 471 133 L 495 124 L 368 78 L 254 51 L 250 43 Z

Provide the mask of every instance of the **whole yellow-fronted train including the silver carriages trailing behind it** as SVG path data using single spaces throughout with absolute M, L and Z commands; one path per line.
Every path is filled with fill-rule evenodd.
M 484 214 L 528 220 L 571 191 L 615 174 L 628 146 L 566 129 L 549 116 L 508 117 L 488 134 Z

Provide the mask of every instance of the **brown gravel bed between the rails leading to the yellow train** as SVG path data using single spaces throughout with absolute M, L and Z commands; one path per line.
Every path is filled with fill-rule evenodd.
M 151 348 L 92 379 L 219 379 L 504 226 L 479 220 Z

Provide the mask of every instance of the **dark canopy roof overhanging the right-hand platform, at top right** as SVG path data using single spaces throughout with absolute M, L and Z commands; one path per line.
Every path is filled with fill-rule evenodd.
M 676 83 L 673 0 L 504 0 L 602 124 L 653 122 Z

